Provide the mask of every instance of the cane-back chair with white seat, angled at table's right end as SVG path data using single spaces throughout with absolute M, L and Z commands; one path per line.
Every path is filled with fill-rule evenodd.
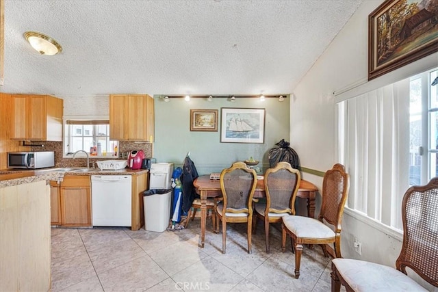
M 335 256 L 341 257 L 341 220 L 349 187 L 350 176 L 345 172 L 344 165 L 337 163 L 324 174 L 322 205 L 318 220 L 295 215 L 281 217 L 281 248 L 285 252 L 286 235 L 289 235 L 295 251 L 295 278 L 298 279 L 300 276 L 300 261 L 304 244 L 319 244 L 324 256 L 328 256 L 326 244 L 334 243 Z M 326 224 L 331 224 L 334 230 Z

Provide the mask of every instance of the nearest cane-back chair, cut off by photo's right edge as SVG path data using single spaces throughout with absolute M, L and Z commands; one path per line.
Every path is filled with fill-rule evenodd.
M 403 244 L 396 269 L 350 258 L 332 261 L 331 291 L 427 291 L 406 268 L 438 287 L 438 177 L 410 187 L 402 202 Z

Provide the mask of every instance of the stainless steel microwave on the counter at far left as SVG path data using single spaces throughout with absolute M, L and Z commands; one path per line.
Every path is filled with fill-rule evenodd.
M 55 166 L 55 152 L 8 152 L 8 168 L 51 168 Z

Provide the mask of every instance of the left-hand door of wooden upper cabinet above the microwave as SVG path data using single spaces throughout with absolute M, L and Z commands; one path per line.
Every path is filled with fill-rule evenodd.
M 11 139 L 27 139 L 29 99 L 27 95 L 12 95 L 12 137 Z

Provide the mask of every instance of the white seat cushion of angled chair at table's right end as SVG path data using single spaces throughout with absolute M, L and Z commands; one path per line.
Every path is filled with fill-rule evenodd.
M 296 237 L 309 239 L 330 239 L 335 237 L 335 232 L 329 226 L 314 218 L 287 215 L 283 216 L 283 224 Z

